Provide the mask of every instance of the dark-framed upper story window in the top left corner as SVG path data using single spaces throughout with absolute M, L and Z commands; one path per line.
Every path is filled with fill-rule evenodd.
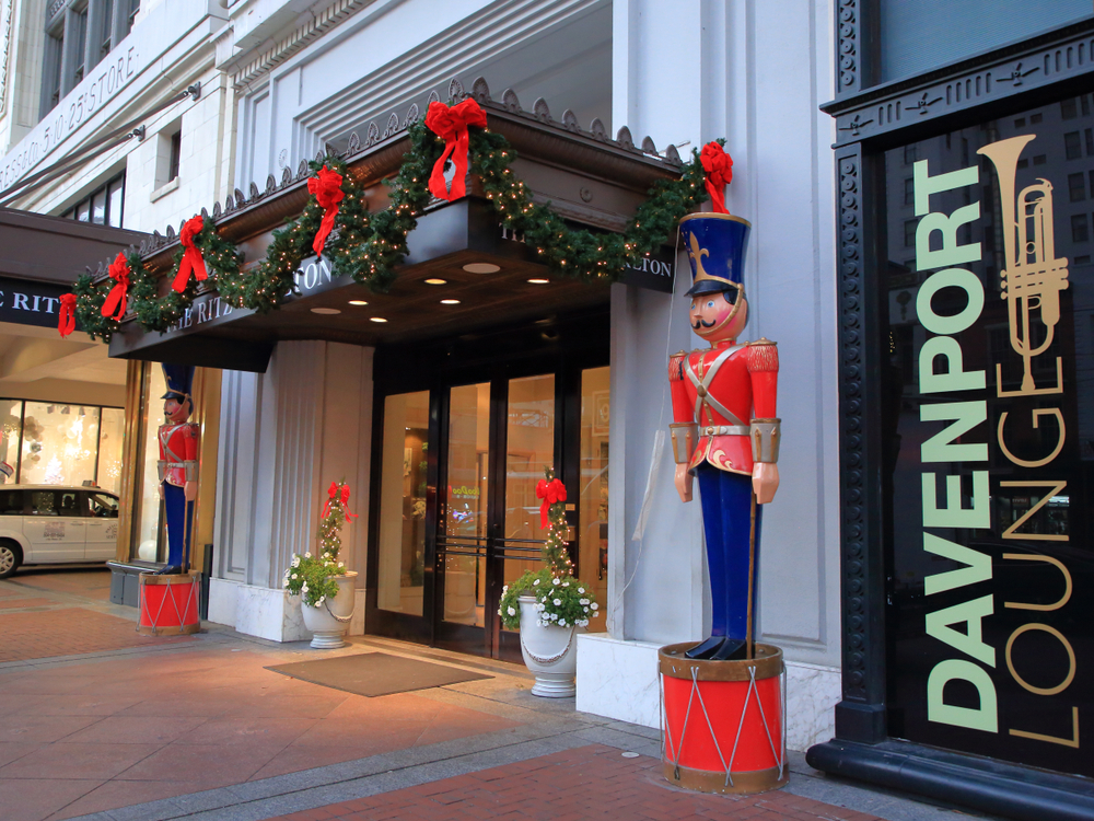
M 140 0 L 54 0 L 46 8 L 45 117 L 132 28 Z

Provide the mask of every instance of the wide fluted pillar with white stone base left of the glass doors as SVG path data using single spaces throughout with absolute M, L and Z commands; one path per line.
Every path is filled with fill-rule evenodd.
M 266 373 L 225 371 L 221 392 L 214 575 L 209 617 L 289 641 L 303 637 L 299 601 L 281 590 L 294 553 L 315 547 L 331 482 L 351 489 L 359 516 L 342 530 L 357 570 L 363 633 L 372 446 L 372 348 L 279 343 Z

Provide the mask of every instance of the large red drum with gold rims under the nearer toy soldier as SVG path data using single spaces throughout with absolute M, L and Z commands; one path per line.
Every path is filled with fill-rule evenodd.
M 752 659 L 705 661 L 684 656 L 694 646 L 657 652 L 665 778 L 699 793 L 752 795 L 785 786 L 782 650 L 757 644 Z

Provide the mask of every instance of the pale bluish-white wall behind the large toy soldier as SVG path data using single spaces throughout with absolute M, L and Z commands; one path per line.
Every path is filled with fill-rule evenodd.
M 734 160 L 730 210 L 753 223 L 745 285 L 746 338 L 779 343 L 782 484 L 765 510 L 760 631 L 789 667 L 788 732 L 794 749 L 829 737 L 839 699 L 839 465 L 833 244 L 831 9 L 824 0 L 721 3 L 615 0 L 613 124 L 680 153 L 724 136 Z M 683 144 L 682 144 L 683 143 Z M 615 286 L 613 294 L 609 636 L 579 640 L 579 669 L 624 655 L 655 681 L 640 648 L 697 639 L 709 628 L 698 504 L 673 488 L 667 444 L 641 540 L 633 540 L 655 436 L 672 420 L 665 352 L 700 347 L 677 297 Z M 617 477 L 622 477 L 617 478 Z M 652 686 L 626 697 L 586 690 L 581 708 L 644 722 Z M 626 715 L 617 715 L 622 709 Z

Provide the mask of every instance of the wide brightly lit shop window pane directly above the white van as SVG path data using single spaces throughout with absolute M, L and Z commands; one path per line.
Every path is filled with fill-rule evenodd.
M 94 483 L 98 461 L 98 410 L 84 405 L 27 402 L 23 412 L 20 483 Z

